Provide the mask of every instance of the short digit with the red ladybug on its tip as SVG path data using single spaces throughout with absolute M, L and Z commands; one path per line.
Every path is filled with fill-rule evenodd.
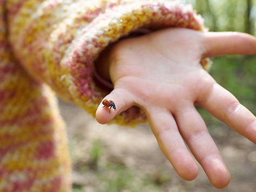
M 103 105 L 103 101 L 105 99 L 111 100 L 113 105 Z M 100 102 L 100 105 L 96 111 L 96 119 L 100 124 L 106 124 L 116 115 L 120 114 L 133 105 L 134 100 L 132 94 L 123 88 L 116 88 L 110 94 L 106 95 L 102 102 Z

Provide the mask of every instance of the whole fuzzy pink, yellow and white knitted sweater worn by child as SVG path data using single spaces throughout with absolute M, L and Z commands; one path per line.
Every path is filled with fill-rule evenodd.
M 100 52 L 137 29 L 173 26 L 204 30 L 176 1 L 0 0 L 0 191 L 69 191 L 55 94 L 94 115 L 107 94 L 93 75 Z M 137 108 L 114 119 L 144 120 Z

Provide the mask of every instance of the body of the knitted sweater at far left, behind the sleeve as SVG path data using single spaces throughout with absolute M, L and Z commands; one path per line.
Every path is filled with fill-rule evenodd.
M 0 191 L 69 191 L 71 162 L 57 99 L 14 57 L 4 2 L 0 1 Z

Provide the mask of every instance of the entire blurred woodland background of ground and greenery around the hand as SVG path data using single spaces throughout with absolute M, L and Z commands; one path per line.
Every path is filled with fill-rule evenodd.
M 193 5 L 210 31 L 256 35 L 255 0 L 182 2 Z M 256 56 L 212 60 L 211 75 L 255 115 Z M 212 187 L 201 168 L 196 180 L 180 179 L 161 154 L 149 125 L 136 128 L 99 125 L 82 109 L 63 101 L 59 105 L 68 129 L 73 191 L 220 191 Z M 198 111 L 231 172 L 231 183 L 221 191 L 256 191 L 256 146 L 203 109 Z

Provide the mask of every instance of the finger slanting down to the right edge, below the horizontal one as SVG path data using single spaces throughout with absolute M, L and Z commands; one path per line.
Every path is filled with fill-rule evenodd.
M 198 105 L 215 118 L 225 122 L 247 139 L 256 143 L 256 118 L 234 95 L 215 83 L 204 94 Z

